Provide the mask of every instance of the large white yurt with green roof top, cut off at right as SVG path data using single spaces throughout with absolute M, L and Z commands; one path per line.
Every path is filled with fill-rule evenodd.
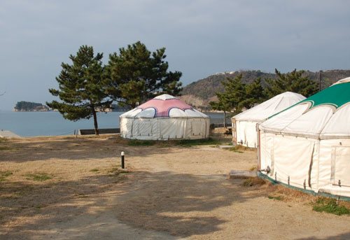
M 270 117 L 258 129 L 263 176 L 350 197 L 350 78 Z

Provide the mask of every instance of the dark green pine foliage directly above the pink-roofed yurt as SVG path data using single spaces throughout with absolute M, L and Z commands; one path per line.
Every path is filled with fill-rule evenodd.
M 120 48 L 119 54 L 109 55 L 107 92 L 121 106 L 132 108 L 160 94 L 179 95 L 182 73 L 168 72 L 165 57 L 165 48 L 150 52 L 139 41 Z

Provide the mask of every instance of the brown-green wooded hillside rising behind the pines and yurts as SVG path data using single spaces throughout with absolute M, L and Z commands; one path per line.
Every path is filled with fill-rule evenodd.
M 197 80 L 183 87 L 181 92 L 183 101 L 188 104 L 208 110 L 209 101 L 215 100 L 216 92 L 223 92 L 224 87 L 221 80 L 226 78 L 235 78 L 242 73 L 243 83 L 252 83 L 258 77 L 262 79 L 263 87 L 266 86 L 265 78 L 276 78 L 275 73 L 264 73 L 262 71 L 235 71 L 231 73 L 217 73 L 216 75 L 208 76 L 207 78 Z M 319 81 L 319 72 L 305 71 L 304 75 L 309 76 L 311 80 Z M 321 89 L 329 87 L 337 80 L 350 76 L 350 70 L 328 70 L 321 73 Z M 196 99 L 194 102 L 193 100 Z

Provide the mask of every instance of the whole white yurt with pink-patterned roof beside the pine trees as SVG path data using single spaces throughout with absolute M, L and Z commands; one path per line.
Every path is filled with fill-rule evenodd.
M 209 116 L 162 94 L 120 115 L 120 135 L 139 140 L 207 139 L 209 124 Z

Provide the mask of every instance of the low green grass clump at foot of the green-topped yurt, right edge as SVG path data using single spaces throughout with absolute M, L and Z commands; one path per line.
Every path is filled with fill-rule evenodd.
M 337 205 L 336 199 L 318 197 L 318 199 L 312 204 L 312 206 L 312 209 L 318 212 L 325 211 L 326 213 L 333 213 L 338 216 L 342 214 L 350 214 L 350 209 L 347 209 L 345 206 Z

